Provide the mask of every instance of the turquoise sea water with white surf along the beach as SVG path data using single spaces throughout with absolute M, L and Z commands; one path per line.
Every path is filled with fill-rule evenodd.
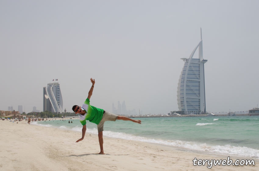
M 169 145 L 215 154 L 259 158 L 259 116 L 157 117 L 131 121 L 106 121 L 103 135 L 112 138 Z M 37 121 L 45 127 L 82 131 L 78 119 Z M 87 121 L 87 133 L 98 134 Z M 79 137 L 80 138 L 80 137 Z

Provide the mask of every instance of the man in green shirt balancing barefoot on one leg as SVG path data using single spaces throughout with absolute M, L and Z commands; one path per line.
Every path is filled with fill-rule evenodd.
M 104 125 L 105 121 L 108 121 L 108 120 L 109 121 L 130 120 L 132 122 L 141 124 L 141 120 L 134 120 L 134 119 L 130 119 L 130 118 L 125 117 L 125 116 L 115 115 L 115 114 L 107 112 L 103 109 L 99 109 L 99 108 L 96 108 L 94 106 L 91 106 L 90 105 L 90 98 L 93 94 L 95 80 L 92 79 L 92 78 L 90 80 L 91 80 L 93 85 L 92 85 L 90 91 L 88 92 L 88 97 L 85 100 L 84 104 L 82 106 L 74 105 L 73 108 L 72 108 L 72 110 L 75 113 L 79 114 L 80 122 L 83 125 L 82 138 L 80 138 L 76 142 L 79 142 L 79 141 L 83 140 L 84 135 L 85 135 L 85 131 L 86 131 L 86 120 L 89 120 L 90 122 L 97 124 L 98 138 L 99 138 L 99 144 L 100 144 L 100 149 L 101 149 L 101 152 L 99 154 L 104 154 L 102 131 L 103 131 L 103 125 Z

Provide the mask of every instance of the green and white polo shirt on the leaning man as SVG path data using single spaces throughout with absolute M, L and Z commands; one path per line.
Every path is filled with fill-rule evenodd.
M 103 109 L 96 108 L 90 105 L 90 100 L 87 98 L 84 104 L 81 106 L 82 110 L 86 111 L 86 114 L 81 115 L 79 113 L 79 119 L 82 125 L 86 124 L 86 120 L 89 120 L 92 123 L 99 124 L 102 116 L 103 116 Z

